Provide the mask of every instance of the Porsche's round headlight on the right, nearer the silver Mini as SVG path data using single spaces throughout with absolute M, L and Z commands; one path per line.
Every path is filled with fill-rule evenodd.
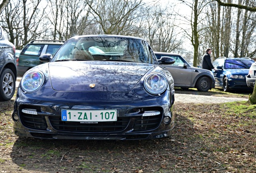
M 168 85 L 166 77 L 161 73 L 151 73 L 144 80 L 144 87 L 147 92 L 158 95 L 163 93 Z

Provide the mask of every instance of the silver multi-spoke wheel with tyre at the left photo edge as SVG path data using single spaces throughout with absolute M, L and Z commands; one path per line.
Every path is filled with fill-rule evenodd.
M 4 68 L 0 75 L 0 100 L 8 101 L 15 93 L 15 76 L 9 68 Z

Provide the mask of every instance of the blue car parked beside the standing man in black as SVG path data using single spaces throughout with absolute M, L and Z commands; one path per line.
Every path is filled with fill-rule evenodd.
M 254 61 L 251 58 L 217 58 L 213 61 L 213 66 L 217 69 L 213 72 L 216 86 L 223 88 L 225 92 L 239 89 L 249 90 L 246 75 L 252 63 Z

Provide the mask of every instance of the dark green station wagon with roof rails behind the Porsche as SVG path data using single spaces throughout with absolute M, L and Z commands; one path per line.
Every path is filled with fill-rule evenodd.
M 39 60 L 39 56 L 47 53 L 54 55 L 63 43 L 63 40 L 33 40 L 29 42 L 21 50 L 17 59 L 17 76 L 23 76 L 30 68 L 43 64 Z

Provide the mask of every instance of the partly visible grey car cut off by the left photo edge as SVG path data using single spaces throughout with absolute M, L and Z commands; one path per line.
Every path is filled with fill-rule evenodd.
M 9 42 L 0 27 L 0 100 L 10 100 L 15 92 L 17 66 L 15 46 Z

